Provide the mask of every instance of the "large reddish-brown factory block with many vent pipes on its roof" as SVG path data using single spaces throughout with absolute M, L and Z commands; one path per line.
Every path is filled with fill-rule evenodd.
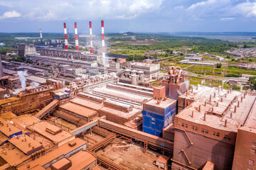
M 254 121 L 250 115 L 255 102 L 256 96 L 247 92 L 199 85 L 179 96 L 172 169 L 199 169 L 207 164 L 214 164 L 214 169 L 252 169 L 253 135 L 245 140 L 245 134 Z

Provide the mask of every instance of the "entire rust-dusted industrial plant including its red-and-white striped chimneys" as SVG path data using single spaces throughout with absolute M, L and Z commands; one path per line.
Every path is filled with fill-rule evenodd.
M 64 42 L 18 46 L 31 63 L 0 62 L 1 170 L 255 169 L 255 93 L 108 56 L 98 25 L 101 52 L 91 21 L 90 52 L 64 23 Z

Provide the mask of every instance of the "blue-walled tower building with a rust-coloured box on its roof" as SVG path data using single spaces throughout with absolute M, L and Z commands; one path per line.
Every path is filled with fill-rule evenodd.
M 154 88 L 153 99 L 143 104 L 143 132 L 162 137 L 176 115 L 176 100 L 166 98 L 165 86 Z

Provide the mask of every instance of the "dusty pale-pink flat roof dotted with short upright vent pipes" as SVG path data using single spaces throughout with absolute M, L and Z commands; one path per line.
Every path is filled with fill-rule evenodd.
M 218 91 L 218 88 L 209 86 L 198 86 L 197 90 L 196 88 L 193 89 L 193 93 L 190 91 L 188 96 L 183 94 L 181 97 L 190 98 L 195 101 L 178 113 L 176 115 L 177 118 L 230 132 L 238 132 L 238 127 L 245 122 L 256 98 L 256 96 L 251 95 L 246 95 L 243 98 L 243 92 L 228 92 L 226 89 Z M 223 101 L 221 101 L 221 98 L 223 98 Z M 237 107 L 238 101 L 240 102 L 239 107 Z M 201 106 L 201 111 L 198 111 L 199 106 Z M 193 118 L 191 116 L 192 112 Z M 206 120 L 204 120 L 205 113 Z M 225 126 L 225 120 L 227 120 L 227 126 Z

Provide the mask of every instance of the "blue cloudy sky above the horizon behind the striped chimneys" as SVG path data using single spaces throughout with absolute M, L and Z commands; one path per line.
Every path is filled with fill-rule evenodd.
M 0 32 L 256 32 L 256 0 L 0 0 Z

